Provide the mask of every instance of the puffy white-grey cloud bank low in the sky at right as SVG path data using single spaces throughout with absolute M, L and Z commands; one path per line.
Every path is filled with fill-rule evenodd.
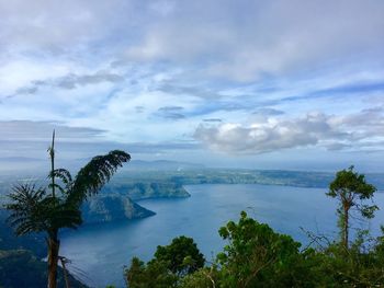
M 264 153 L 300 147 L 329 150 L 382 149 L 382 108 L 348 116 L 309 113 L 302 118 L 268 118 L 244 124 L 200 125 L 194 138 L 213 150 L 230 153 Z

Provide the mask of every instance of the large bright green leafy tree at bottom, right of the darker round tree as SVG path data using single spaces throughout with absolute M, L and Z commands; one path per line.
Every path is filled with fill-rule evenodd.
M 305 273 L 301 267 L 301 244 L 291 237 L 275 233 L 268 224 L 247 217 L 245 211 L 238 223 L 229 221 L 218 232 L 229 241 L 217 255 L 219 287 L 306 286 L 302 283 Z

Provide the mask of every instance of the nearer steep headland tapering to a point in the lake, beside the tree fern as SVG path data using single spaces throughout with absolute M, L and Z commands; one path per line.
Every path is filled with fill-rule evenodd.
M 82 207 L 82 218 L 86 224 L 103 223 L 154 216 L 150 211 L 118 194 L 106 194 L 91 197 Z

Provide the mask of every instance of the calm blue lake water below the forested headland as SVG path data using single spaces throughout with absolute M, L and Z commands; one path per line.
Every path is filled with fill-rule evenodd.
M 157 212 L 154 217 L 65 233 L 60 254 L 72 261 L 71 273 L 92 287 L 125 287 L 123 267 L 133 256 L 148 261 L 157 245 L 169 244 L 178 235 L 192 237 L 212 260 L 225 244 L 218 228 L 237 220 L 241 210 L 304 244 L 308 239 L 301 228 L 329 238 L 336 235 L 336 200 L 325 196 L 326 189 L 256 184 L 185 188 L 190 198 L 139 201 Z M 384 194 L 376 194 L 375 201 L 384 210 Z M 370 223 L 375 233 L 380 222 L 384 222 L 384 211 L 379 211 Z

